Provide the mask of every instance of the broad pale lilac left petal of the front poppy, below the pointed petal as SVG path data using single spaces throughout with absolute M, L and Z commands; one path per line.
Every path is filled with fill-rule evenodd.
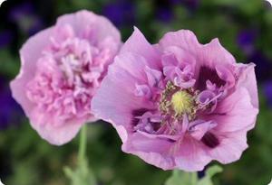
M 108 75 L 102 80 L 101 88 L 92 98 L 93 114 L 116 125 L 130 125 L 133 110 L 151 108 L 153 104 L 135 96 L 135 85 L 148 83 L 144 78 L 144 67 L 144 58 L 137 60 L 131 53 L 116 57 Z

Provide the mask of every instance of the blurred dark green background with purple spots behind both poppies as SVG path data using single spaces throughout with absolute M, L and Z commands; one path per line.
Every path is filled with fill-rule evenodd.
M 30 127 L 11 97 L 8 83 L 20 67 L 18 51 L 56 17 L 87 9 L 103 14 L 125 41 L 136 25 L 152 42 L 165 32 L 189 29 L 202 43 L 218 37 L 239 62 L 257 64 L 260 114 L 248 134 L 248 150 L 224 165 L 217 185 L 267 185 L 272 178 L 272 8 L 263 0 L 7 0 L 0 8 L 0 178 L 7 185 L 64 185 L 63 166 L 76 164 L 78 140 L 61 147 L 46 143 Z M 103 185 L 162 185 L 161 171 L 121 152 L 107 123 L 88 125 L 88 158 Z

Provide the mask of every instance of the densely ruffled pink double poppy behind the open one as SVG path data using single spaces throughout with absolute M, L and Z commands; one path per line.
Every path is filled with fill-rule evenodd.
M 11 89 L 38 134 L 63 144 L 96 120 L 91 99 L 120 46 L 112 23 L 88 11 L 65 14 L 24 43 Z

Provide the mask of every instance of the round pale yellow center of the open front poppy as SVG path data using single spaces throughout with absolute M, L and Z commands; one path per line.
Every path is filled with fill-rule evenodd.
M 176 116 L 190 114 L 194 106 L 193 97 L 188 92 L 180 90 L 171 97 L 171 106 Z

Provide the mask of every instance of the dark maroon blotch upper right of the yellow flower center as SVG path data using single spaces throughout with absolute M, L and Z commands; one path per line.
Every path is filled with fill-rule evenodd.
M 215 69 L 210 69 L 207 66 L 201 66 L 199 70 L 198 86 L 199 90 L 206 89 L 206 81 L 209 79 L 212 83 L 216 84 L 217 87 L 224 86 L 226 81 L 219 78 L 219 75 Z

